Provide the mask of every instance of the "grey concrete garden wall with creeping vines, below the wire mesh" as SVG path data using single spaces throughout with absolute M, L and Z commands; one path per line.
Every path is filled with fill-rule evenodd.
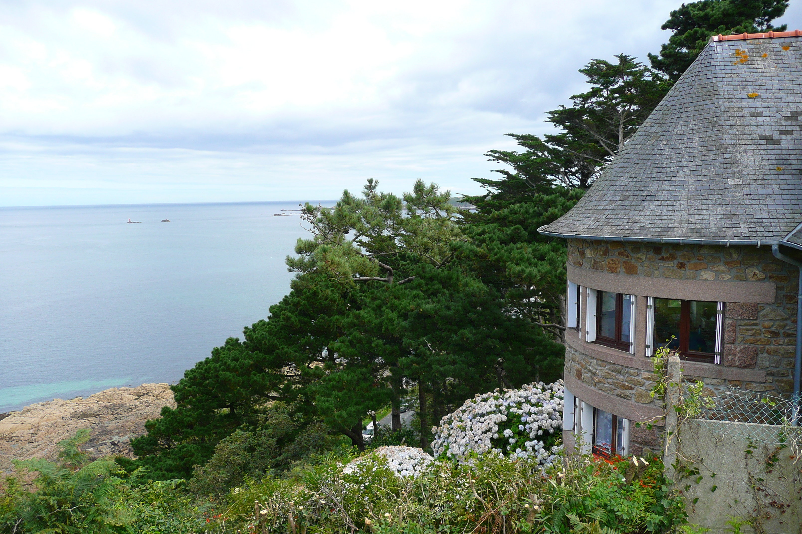
M 732 532 L 727 520 L 733 516 L 759 517 L 764 530 L 757 532 L 802 532 L 802 460 L 794 464 L 789 448 L 765 444 L 776 440 L 779 432 L 776 425 L 699 420 L 683 424 L 678 456 L 703 476 L 699 484 L 697 475 L 677 484 L 687 497 L 691 524 L 718 534 Z M 750 435 L 755 441 L 762 436 L 763 444 L 750 446 L 745 437 Z M 769 464 L 775 453 L 776 463 Z M 666 468 L 667 476 L 676 476 Z M 699 500 L 694 504 L 695 499 Z M 743 532 L 753 531 L 744 525 Z

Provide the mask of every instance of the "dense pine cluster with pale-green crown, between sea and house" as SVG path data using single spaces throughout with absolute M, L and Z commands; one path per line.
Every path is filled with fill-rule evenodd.
M 290 294 L 268 319 L 245 328 L 243 340 L 226 340 L 186 371 L 172 387 L 176 408 L 164 408 L 161 419 L 148 421 L 148 435 L 133 440 L 148 476 L 188 479 L 221 440 L 259 428 L 276 400 L 363 449 L 367 412 L 398 406 L 415 383 L 429 399 L 419 414 L 425 447 L 431 416 L 436 422 L 468 396 L 557 378 L 561 345 L 517 316 L 504 287 L 484 283 L 465 255 L 456 260 L 466 238 L 448 191 L 417 182 L 402 200 L 377 186 L 369 182 L 363 199 L 346 191 L 331 209 L 305 208 L 312 239 L 299 241 L 301 257 L 288 260 L 298 271 Z M 558 254 L 549 259 L 562 269 Z M 545 271 L 527 277 L 527 258 L 525 250 L 513 254 L 521 263 L 515 275 L 533 283 Z M 279 454 L 271 450 L 265 454 Z M 213 472 L 223 485 L 207 485 L 210 491 L 232 484 Z

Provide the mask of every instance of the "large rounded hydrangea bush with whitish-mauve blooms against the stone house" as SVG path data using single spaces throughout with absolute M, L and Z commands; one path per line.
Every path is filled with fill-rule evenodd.
M 431 448 L 460 462 L 476 452 L 552 464 L 562 452 L 562 395 L 562 380 L 476 395 L 431 429 Z

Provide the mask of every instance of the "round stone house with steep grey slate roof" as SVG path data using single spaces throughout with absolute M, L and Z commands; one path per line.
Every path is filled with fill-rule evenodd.
M 539 229 L 568 242 L 569 448 L 660 448 L 634 422 L 662 416 L 650 356 L 666 343 L 704 395 L 800 390 L 800 35 L 711 38 L 576 207 Z

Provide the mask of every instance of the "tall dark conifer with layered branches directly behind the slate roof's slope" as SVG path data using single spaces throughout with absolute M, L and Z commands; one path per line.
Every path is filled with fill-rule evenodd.
M 563 337 L 566 319 L 565 243 L 537 228 L 553 223 L 581 199 L 671 85 L 626 54 L 615 59 L 589 62 L 580 72 L 590 89 L 574 94 L 571 106 L 549 111 L 548 120 L 560 133 L 542 139 L 511 134 L 523 151 L 486 154 L 511 169 L 496 170 L 503 179 L 474 179 L 487 192 L 465 197 L 477 211 L 464 214 L 462 231 L 468 239 L 454 245 L 458 259 L 504 295 L 509 315 L 525 319 L 530 329 L 556 324 L 545 331 L 557 339 Z M 556 378 L 551 372 L 547 369 L 540 379 Z

